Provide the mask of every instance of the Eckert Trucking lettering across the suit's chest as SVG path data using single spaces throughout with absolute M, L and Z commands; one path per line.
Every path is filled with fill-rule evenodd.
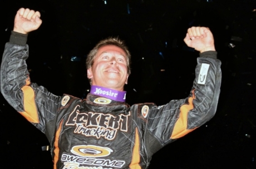
M 80 105 L 69 115 L 65 126 L 74 126 L 73 134 L 95 139 L 114 140 L 118 132 L 130 132 L 131 113 L 113 115 L 102 112 L 80 112 Z

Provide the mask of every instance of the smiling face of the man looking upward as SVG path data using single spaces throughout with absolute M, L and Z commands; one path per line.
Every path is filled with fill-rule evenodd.
M 124 50 L 115 45 L 101 47 L 95 55 L 93 65 L 87 69 L 92 85 L 124 90 L 127 84 L 127 63 Z

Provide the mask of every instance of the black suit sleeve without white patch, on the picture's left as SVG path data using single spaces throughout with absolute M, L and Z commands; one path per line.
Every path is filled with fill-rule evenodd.
M 1 93 L 14 109 L 45 133 L 51 127 L 49 124 L 56 119 L 61 97 L 31 83 L 26 64 L 26 42 L 26 34 L 12 32 L 6 43 L 1 64 Z

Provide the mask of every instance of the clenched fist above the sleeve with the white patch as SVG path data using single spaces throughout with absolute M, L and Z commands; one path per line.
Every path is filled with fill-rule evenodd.
M 214 38 L 209 28 L 206 27 L 191 27 L 186 33 L 184 42 L 188 47 L 195 48 L 200 53 L 209 50 L 215 51 Z

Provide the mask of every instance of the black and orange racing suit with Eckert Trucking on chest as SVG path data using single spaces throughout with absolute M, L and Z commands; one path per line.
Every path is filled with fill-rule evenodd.
M 55 168 L 147 168 L 153 153 L 211 119 L 218 104 L 216 52 L 200 54 L 188 98 L 162 106 L 53 95 L 31 83 L 27 58 L 26 35 L 12 32 L 2 59 L 1 92 L 46 134 Z

